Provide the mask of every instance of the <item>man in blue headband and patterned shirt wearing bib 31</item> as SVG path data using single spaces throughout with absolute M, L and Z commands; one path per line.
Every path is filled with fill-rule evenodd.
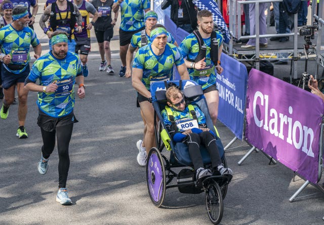
M 9 107 L 15 100 L 15 88 L 18 92 L 18 124 L 16 136 L 19 139 L 28 138 L 25 129 L 27 115 L 28 90 L 24 88 L 25 78 L 29 74 L 30 45 L 37 59 L 42 53 L 42 47 L 33 29 L 28 27 L 29 17 L 26 7 L 17 6 L 12 11 L 13 22 L 0 30 L 2 63 L 2 86 L 5 98 L 0 110 L 0 117 L 7 119 Z

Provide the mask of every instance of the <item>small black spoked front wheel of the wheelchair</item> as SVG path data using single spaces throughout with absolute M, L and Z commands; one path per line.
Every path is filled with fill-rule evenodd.
M 223 198 L 216 182 L 211 182 L 206 189 L 206 207 L 209 219 L 214 224 L 220 223 L 223 217 Z

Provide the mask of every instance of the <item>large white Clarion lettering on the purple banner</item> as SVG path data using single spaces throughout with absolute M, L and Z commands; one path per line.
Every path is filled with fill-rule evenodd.
M 256 106 L 260 104 L 264 106 L 264 118 L 258 118 Z M 261 92 L 256 92 L 253 100 L 253 117 L 254 122 L 258 127 L 263 127 L 264 130 L 270 132 L 275 137 L 285 140 L 284 135 L 284 124 L 288 125 L 288 132 L 286 142 L 290 145 L 294 145 L 296 149 L 302 148 L 302 151 L 305 152 L 308 156 L 314 157 L 312 150 L 312 143 L 314 140 L 314 131 L 307 127 L 303 126 L 300 121 L 296 120 L 293 122 L 293 118 L 288 115 L 279 113 L 275 109 L 268 110 L 269 107 L 269 96 L 263 95 Z M 293 114 L 293 107 L 289 106 L 289 114 Z M 268 114 L 269 113 L 269 114 Z M 278 130 L 279 124 L 279 130 Z M 297 140 L 297 133 L 299 132 L 299 139 Z M 308 146 L 308 137 L 309 137 L 309 148 Z

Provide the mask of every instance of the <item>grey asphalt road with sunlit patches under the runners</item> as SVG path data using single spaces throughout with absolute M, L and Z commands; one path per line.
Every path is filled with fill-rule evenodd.
M 117 74 L 120 60 L 117 52 L 113 53 Z M 136 142 L 142 137 L 143 124 L 131 80 L 100 72 L 95 51 L 90 58 L 86 98 L 76 98 L 79 122 L 74 124 L 69 149 L 67 188 L 73 204 L 62 206 L 55 201 L 56 149 L 49 172 L 41 175 L 37 171 L 42 139 L 36 125 L 36 93 L 29 93 L 28 139 L 15 136 L 18 104 L 11 106 L 8 119 L 0 120 L 0 224 L 211 224 L 204 194 L 168 189 L 163 207 L 153 206 L 145 168 L 136 161 Z M 299 66 L 303 72 L 303 64 Z M 288 74 L 289 66 L 275 66 L 275 76 Z M 218 129 L 226 145 L 234 136 L 220 122 Z M 245 142 L 236 141 L 226 151 L 234 174 L 221 224 L 323 224 L 324 195 L 309 186 L 302 195 L 314 195 L 290 203 L 288 199 L 304 181 L 296 177 L 294 182 L 290 169 L 280 163 L 268 165 L 261 153 L 252 153 L 238 166 L 249 149 Z

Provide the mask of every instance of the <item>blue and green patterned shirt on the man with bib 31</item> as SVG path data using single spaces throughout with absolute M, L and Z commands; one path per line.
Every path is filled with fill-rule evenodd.
M 36 33 L 30 27 L 24 27 L 22 30 L 16 30 L 11 24 L 0 29 L 1 52 L 11 55 L 12 65 L 24 66 L 20 70 L 11 70 L 6 64 L 4 67 L 15 74 L 19 74 L 29 66 L 30 44 L 36 47 L 39 44 Z

